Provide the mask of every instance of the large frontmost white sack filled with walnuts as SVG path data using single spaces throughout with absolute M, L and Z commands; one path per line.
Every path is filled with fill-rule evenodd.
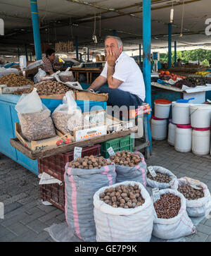
M 94 194 L 94 220 L 97 242 L 149 242 L 153 202 L 141 183 L 106 186 Z

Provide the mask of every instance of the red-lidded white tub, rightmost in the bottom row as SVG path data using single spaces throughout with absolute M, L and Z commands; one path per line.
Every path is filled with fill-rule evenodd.
M 206 155 L 210 152 L 210 128 L 193 128 L 192 152 L 197 155 Z

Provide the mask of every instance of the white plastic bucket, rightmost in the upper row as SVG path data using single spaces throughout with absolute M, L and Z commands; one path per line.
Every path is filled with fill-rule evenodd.
M 210 127 L 211 106 L 206 104 L 197 104 L 190 106 L 191 126 L 193 128 Z

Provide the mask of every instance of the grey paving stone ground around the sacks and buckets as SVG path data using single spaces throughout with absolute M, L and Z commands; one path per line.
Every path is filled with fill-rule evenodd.
M 170 169 L 181 178 L 188 176 L 207 184 L 211 191 L 211 157 L 198 157 L 191 152 L 179 153 L 166 141 L 153 142 L 148 165 Z M 65 221 L 65 214 L 54 206 L 41 203 L 39 178 L 10 158 L 0 154 L 0 202 L 4 219 L 0 219 L 0 242 L 52 242 L 44 228 Z M 203 219 L 197 233 L 186 241 L 210 242 L 211 219 Z

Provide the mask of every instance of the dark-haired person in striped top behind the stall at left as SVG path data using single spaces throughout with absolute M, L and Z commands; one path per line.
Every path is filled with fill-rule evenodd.
M 52 75 L 62 64 L 56 61 L 55 51 L 53 49 L 46 50 L 46 58 L 42 59 L 44 62 L 43 68 L 47 75 Z

